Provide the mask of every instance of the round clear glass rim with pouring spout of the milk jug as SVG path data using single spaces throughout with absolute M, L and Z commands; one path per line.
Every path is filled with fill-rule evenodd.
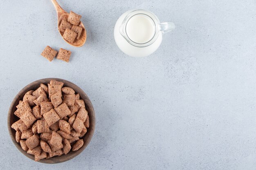
M 128 21 L 130 20 L 130 18 L 132 18 L 133 16 L 138 15 L 138 14 L 147 15 L 148 17 L 150 17 L 152 19 L 153 23 L 155 24 L 155 33 L 154 33 L 153 37 L 148 42 L 145 42 L 145 43 L 137 43 L 137 42 L 132 41 L 126 33 L 126 25 L 127 25 Z M 119 33 L 131 45 L 136 46 L 136 47 L 146 47 L 146 46 L 150 46 L 151 44 L 153 44 L 155 42 L 155 40 L 157 40 L 157 38 L 159 36 L 159 32 L 160 32 L 159 24 L 160 24 L 160 21 L 153 12 L 145 10 L 145 9 L 136 9 L 126 15 L 123 22 L 121 23 L 121 26 L 119 27 Z

